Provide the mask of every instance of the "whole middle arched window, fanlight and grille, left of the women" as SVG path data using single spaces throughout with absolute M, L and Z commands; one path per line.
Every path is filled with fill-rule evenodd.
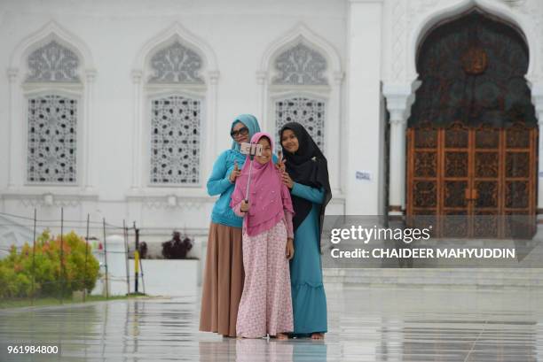
M 178 39 L 149 58 L 146 82 L 150 105 L 150 185 L 201 182 L 203 60 Z

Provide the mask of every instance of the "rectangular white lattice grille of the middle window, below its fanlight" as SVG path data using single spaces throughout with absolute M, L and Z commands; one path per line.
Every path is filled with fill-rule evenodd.
M 201 101 L 163 97 L 151 112 L 151 183 L 199 183 Z

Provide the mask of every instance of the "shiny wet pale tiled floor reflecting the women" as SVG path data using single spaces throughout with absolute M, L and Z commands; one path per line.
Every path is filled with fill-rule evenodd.
M 327 289 L 325 341 L 198 332 L 194 297 L 0 311 L 0 361 L 543 361 L 543 293 Z M 7 355 L 54 344 L 59 356 Z

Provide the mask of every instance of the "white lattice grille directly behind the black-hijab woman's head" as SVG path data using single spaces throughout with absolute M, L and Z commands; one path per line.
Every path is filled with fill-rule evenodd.
M 325 102 L 306 97 L 292 97 L 275 102 L 275 126 L 281 129 L 288 122 L 298 122 L 307 129 L 320 150 L 324 150 Z M 278 137 L 279 138 L 279 137 Z M 277 140 L 279 149 L 280 140 Z

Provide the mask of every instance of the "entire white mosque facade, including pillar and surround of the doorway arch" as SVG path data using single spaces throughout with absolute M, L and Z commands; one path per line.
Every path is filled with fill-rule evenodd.
M 174 228 L 205 241 L 215 201 L 205 181 L 213 160 L 230 147 L 232 119 L 253 113 L 275 135 L 272 101 L 303 94 L 327 101 L 325 153 L 334 192 L 327 212 L 380 213 L 387 146 L 382 96 L 391 122 L 405 125 L 417 76 L 417 42 L 440 19 L 474 5 L 523 30 L 531 52 L 527 79 L 536 109 L 543 113 L 539 0 L 6 0 L 0 4 L 0 210 L 31 217 L 37 208 L 40 219 L 58 220 L 64 207 L 73 220 L 85 220 L 88 213 L 91 220 L 105 218 L 114 225 L 135 220 L 147 240 L 155 242 Z M 83 62 L 81 84 L 62 89 L 82 105 L 74 186 L 29 185 L 25 176 L 25 96 L 51 84 L 23 87 L 24 59 L 51 34 Z M 203 59 L 205 86 L 146 85 L 153 47 L 175 37 Z M 327 59 L 326 87 L 271 85 L 274 56 L 300 37 Z M 179 92 L 202 100 L 200 183 L 149 186 L 149 97 Z M 401 127 L 396 130 L 401 134 Z M 392 145 L 394 152 L 390 204 L 403 206 L 405 150 Z

